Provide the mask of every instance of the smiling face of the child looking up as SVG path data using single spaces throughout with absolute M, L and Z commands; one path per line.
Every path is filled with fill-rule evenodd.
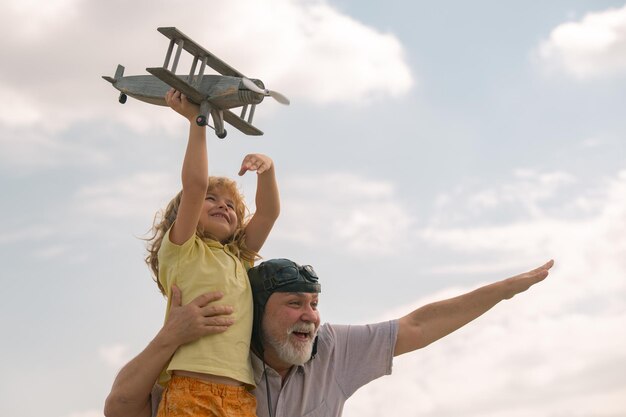
M 230 193 L 219 188 L 207 192 L 199 223 L 220 242 L 228 240 L 237 230 L 235 200 Z

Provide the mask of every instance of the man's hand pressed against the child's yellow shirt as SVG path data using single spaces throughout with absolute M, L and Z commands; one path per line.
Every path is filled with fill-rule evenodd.
M 181 306 L 181 293 L 172 286 L 170 313 L 161 332 L 168 335 L 175 345 L 181 346 L 209 334 L 225 332 L 234 320 L 230 306 L 212 305 L 224 295 L 210 292 L 196 297 L 187 305 Z

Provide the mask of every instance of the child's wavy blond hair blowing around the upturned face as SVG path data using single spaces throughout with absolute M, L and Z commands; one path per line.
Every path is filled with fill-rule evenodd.
M 245 227 L 248 222 L 249 212 L 244 202 L 243 195 L 239 192 L 237 183 L 226 177 L 209 177 L 207 194 L 214 190 L 226 191 L 231 195 L 235 204 L 235 214 L 237 215 L 237 227 L 235 228 L 235 232 L 225 242 L 221 243 L 227 246 L 228 249 L 239 259 L 253 263 L 255 260 L 259 259 L 259 255 L 255 251 L 246 248 L 245 245 Z M 176 220 L 182 194 L 182 190 L 179 191 L 178 194 L 176 194 L 176 196 L 169 202 L 165 210 L 161 210 L 155 215 L 154 222 L 152 224 L 152 236 L 145 239 L 148 242 L 146 244 L 148 255 L 146 256 L 145 261 L 150 267 L 153 275 L 152 278 L 159 286 L 159 290 L 162 294 L 165 294 L 165 289 L 159 282 L 158 253 L 165 234 Z M 196 235 L 201 239 L 217 240 L 215 237 L 202 230 L 202 227 L 199 224 L 196 229 Z

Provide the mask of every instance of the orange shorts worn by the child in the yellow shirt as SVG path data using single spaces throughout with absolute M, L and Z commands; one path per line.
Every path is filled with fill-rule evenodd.
M 256 398 L 245 386 L 173 375 L 157 417 L 256 417 Z

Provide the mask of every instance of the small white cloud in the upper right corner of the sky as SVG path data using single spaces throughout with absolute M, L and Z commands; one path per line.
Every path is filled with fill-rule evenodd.
M 626 73 L 626 6 L 557 26 L 535 53 L 549 71 L 579 80 Z

